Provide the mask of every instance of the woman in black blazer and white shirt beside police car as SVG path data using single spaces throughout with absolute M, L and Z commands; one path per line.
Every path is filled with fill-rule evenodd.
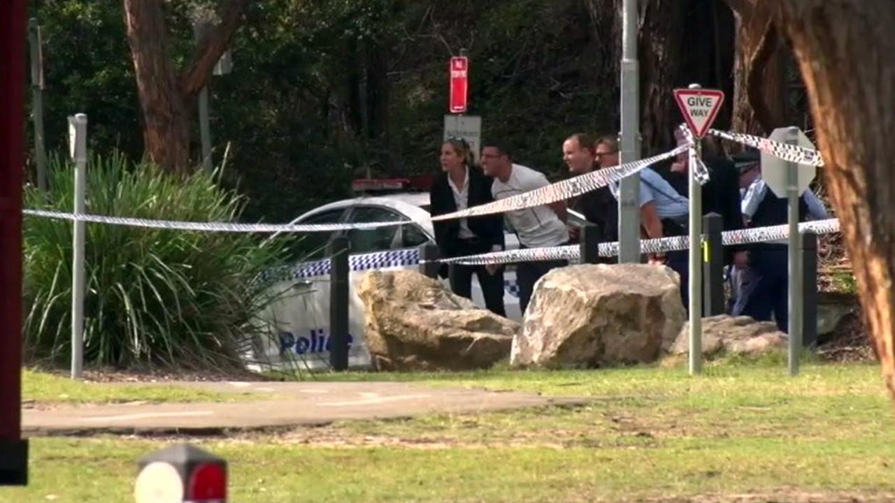
M 441 145 L 441 173 L 433 181 L 429 197 L 431 215 L 443 215 L 471 208 L 494 200 L 490 178 L 473 164 L 469 144 L 449 139 Z M 432 222 L 435 242 L 442 257 L 452 258 L 478 253 L 499 252 L 504 248 L 503 217 L 458 218 Z M 447 277 L 451 291 L 467 299 L 473 294 L 473 274 L 482 286 L 485 307 L 506 316 L 503 302 L 503 271 L 495 266 L 451 264 Z

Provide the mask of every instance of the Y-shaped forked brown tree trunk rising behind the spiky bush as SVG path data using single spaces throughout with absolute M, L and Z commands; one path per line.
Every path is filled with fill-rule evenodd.
M 220 22 L 200 40 L 180 78 L 167 53 L 167 28 L 161 0 L 124 0 L 137 92 L 143 112 L 143 138 L 149 160 L 166 170 L 192 173 L 190 105 L 209 81 L 211 71 L 239 27 L 251 0 L 228 0 Z

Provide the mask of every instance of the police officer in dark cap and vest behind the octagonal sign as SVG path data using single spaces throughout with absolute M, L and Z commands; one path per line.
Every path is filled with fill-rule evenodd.
M 761 154 L 749 149 L 734 156 L 741 166 L 740 180 L 748 183 L 742 209 L 746 227 L 780 226 L 788 220 L 786 198 L 777 197 L 761 176 Z M 827 211 L 810 189 L 798 199 L 799 221 L 807 217 L 823 219 Z M 788 247 L 787 242 L 754 243 L 748 247 L 748 268 L 740 271 L 739 292 L 734 315 L 770 321 L 771 313 L 780 331 L 788 328 Z

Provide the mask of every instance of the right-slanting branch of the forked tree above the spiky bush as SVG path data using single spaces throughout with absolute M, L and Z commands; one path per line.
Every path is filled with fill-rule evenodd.
M 254 0 L 226 0 L 217 17 L 220 23 L 200 39 L 199 47 L 180 75 L 180 91 L 184 100 L 194 98 L 205 87 L 217 60 L 230 45 L 242 21 L 245 6 Z

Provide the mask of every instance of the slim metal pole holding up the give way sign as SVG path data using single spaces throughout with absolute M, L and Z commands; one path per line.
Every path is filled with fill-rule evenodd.
M 689 89 L 700 89 L 699 84 L 690 84 Z M 696 158 L 703 157 L 703 146 L 698 139 L 695 140 Z M 690 200 L 689 234 L 690 249 L 689 276 L 690 284 L 687 286 L 690 293 L 690 375 L 703 371 L 703 268 L 700 267 L 703 236 L 703 187 L 696 182 L 696 166 L 691 165 L 687 169 L 687 187 Z M 683 287 L 683 286 L 682 286 Z

